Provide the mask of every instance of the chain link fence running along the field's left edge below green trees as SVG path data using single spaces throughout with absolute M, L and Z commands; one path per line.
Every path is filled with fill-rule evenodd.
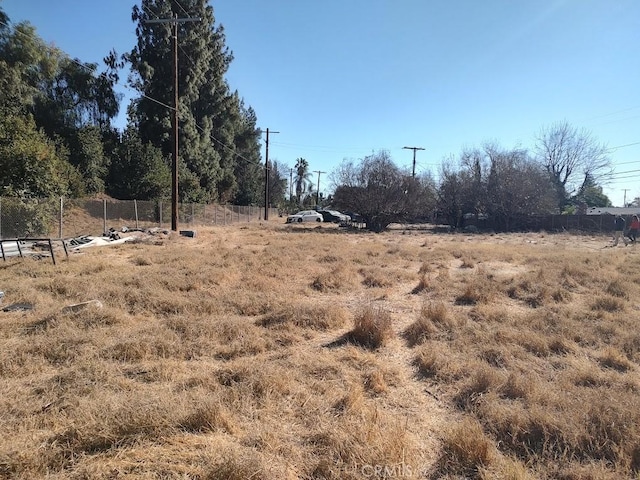
M 269 209 L 269 218 L 278 210 Z M 230 225 L 264 219 L 264 207 L 178 204 L 178 226 Z M 0 197 L 0 239 L 102 235 L 110 229 L 171 228 L 171 202 Z

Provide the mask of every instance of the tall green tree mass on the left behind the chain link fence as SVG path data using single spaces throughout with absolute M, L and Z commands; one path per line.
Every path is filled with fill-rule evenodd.
M 159 199 L 171 193 L 172 25 L 178 28 L 179 193 L 183 202 L 257 204 L 264 192 L 254 110 L 225 79 L 233 55 L 206 0 L 143 0 L 132 8 L 137 43 L 104 64 L 71 58 L 28 22 L 0 10 L 0 195 Z M 183 11 L 184 9 L 184 11 Z M 113 126 L 128 88 L 122 131 Z

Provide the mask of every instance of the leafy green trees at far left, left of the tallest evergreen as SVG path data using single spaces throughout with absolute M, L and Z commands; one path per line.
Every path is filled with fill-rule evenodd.
M 3 172 L 6 194 L 104 190 L 101 132 L 118 111 L 114 81 L 113 75 L 98 75 L 97 65 L 71 60 L 47 45 L 28 23 L 0 30 L 0 115 L 4 134 L 16 136 L 11 145 L 5 142 L 4 154 L 18 155 L 0 159 L 11 169 Z M 8 125 L 8 118 L 18 123 Z M 20 158 L 23 167 L 16 163 Z

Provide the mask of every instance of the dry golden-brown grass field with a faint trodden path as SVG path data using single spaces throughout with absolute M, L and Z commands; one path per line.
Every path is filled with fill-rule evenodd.
M 0 478 L 640 478 L 608 243 L 275 220 L 10 259 Z

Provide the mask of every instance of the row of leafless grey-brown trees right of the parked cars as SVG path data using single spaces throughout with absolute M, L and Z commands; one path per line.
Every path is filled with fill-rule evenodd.
M 610 175 L 607 151 L 589 132 L 560 122 L 540 130 L 532 151 L 495 142 L 465 149 L 442 162 L 437 182 L 398 168 L 381 151 L 343 162 L 332 174 L 332 200 L 374 231 L 434 218 L 458 228 L 469 217 L 508 231 L 520 217 L 611 206 L 599 183 Z

